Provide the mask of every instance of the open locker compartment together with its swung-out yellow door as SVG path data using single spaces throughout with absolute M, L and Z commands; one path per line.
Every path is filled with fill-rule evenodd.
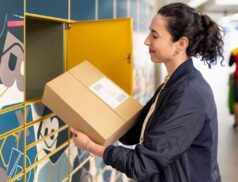
M 26 101 L 41 98 L 46 82 L 84 60 L 132 94 L 132 19 L 69 24 L 27 16 Z

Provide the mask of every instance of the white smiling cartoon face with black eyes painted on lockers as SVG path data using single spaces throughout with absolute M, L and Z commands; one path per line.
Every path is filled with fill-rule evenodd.
M 40 123 L 38 130 L 38 139 L 49 135 L 55 130 L 59 129 L 59 120 L 56 117 L 47 118 L 43 122 Z M 47 137 L 44 139 L 44 145 L 42 146 L 46 153 L 52 152 L 57 147 L 57 137 L 58 133 Z

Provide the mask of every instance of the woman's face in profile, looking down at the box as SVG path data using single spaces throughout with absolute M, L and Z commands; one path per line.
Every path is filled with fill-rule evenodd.
M 166 63 L 173 59 L 177 43 L 172 41 L 172 36 L 166 29 L 167 20 L 157 14 L 151 21 L 150 33 L 145 40 L 149 47 L 151 60 L 154 63 Z

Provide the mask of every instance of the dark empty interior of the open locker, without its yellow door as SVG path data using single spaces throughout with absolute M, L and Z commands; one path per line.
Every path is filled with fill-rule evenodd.
M 26 100 L 39 98 L 45 83 L 64 71 L 64 24 L 26 18 Z

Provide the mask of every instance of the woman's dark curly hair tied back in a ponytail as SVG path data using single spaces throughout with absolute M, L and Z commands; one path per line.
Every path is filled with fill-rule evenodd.
M 163 6 L 158 14 L 167 18 L 167 30 L 173 41 L 185 36 L 189 40 L 187 55 L 201 56 L 209 67 L 217 63 L 217 58 L 223 57 L 222 29 L 207 15 L 196 12 L 195 9 L 183 3 L 172 3 Z

